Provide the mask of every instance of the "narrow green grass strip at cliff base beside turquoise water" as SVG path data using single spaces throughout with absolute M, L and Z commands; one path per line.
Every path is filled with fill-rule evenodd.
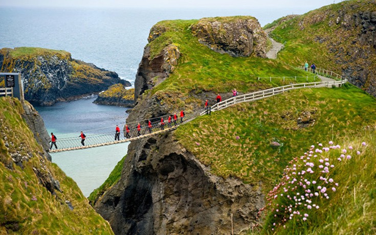
M 87 198 L 87 199 L 89 199 L 89 201 L 92 205 L 95 204 L 95 202 L 99 199 L 99 197 L 101 197 L 108 188 L 112 187 L 113 185 L 115 185 L 120 180 L 121 170 L 123 169 L 123 163 L 124 163 L 125 158 L 126 158 L 126 156 L 124 156 L 118 162 L 118 164 L 116 164 L 115 168 L 109 174 L 106 181 L 104 181 L 104 183 L 101 186 L 94 189 L 94 191 L 92 191 L 90 196 Z

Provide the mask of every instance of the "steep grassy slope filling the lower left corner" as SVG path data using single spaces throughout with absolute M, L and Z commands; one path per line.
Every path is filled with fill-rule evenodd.
M 0 98 L 0 233 L 113 234 L 77 184 L 42 157 L 23 112 L 18 100 Z M 61 191 L 51 194 L 43 184 L 54 180 Z

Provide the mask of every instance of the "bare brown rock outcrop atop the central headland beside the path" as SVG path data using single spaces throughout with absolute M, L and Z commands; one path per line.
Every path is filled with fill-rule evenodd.
M 266 58 L 267 35 L 254 17 L 203 18 L 191 26 L 201 44 L 234 57 Z

